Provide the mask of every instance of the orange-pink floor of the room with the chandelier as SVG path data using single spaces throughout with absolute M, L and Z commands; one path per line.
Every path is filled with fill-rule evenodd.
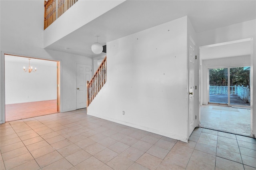
M 57 100 L 35 101 L 5 105 L 5 120 L 16 121 L 57 113 Z

